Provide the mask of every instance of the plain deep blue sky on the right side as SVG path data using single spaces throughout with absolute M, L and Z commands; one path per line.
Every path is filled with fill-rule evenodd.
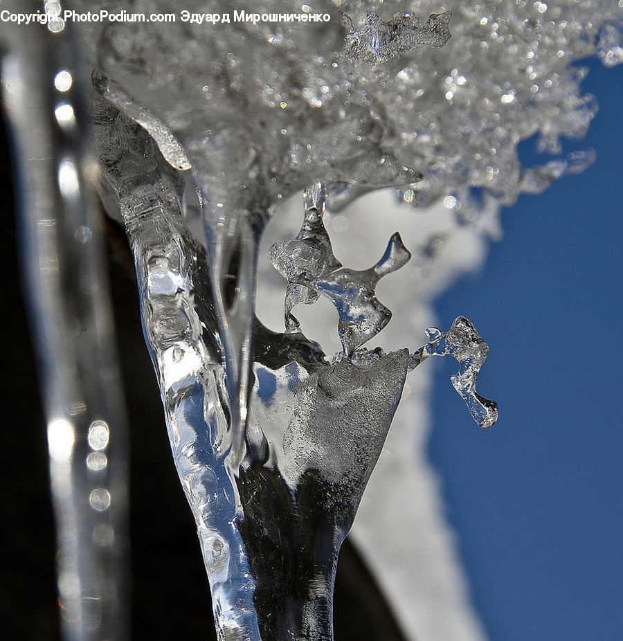
M 491 347 L 498 424 L 471 423 L 440 363 L 429 453 L 494 641 L 623 639 L 623 65 L 582 64 L 599 113 L 563 147 L 597 161 L 505 209 L 485 269 L 436 305 Z

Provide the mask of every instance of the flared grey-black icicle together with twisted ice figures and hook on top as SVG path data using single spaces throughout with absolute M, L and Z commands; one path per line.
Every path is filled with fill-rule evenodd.
M 381 276 L 404 266 L 410 253 L 395 234 L 376 266 L 347 269 L 336 259 L 323 224 L 330 200 L 322 183 L 305 191 L 303 204 L 303 226 L 296 238 L 271 248 L 273 267 L 288 281 L 287 334 L 256 330 L 262 338 L 261 350 L 255 357 L 248 449 L 239 490 L 246 515 L 242 529 L 258 579 L 256 604 L 279 610 L 285 597 L 280 586 L 291 579 L 274 568 L 284 566 L 288 549 L 297 550 L 296 562 L 303 572 L 311 548 L 318 550 L 320 545 L 325 550 L 324 563 L 316 566 L 320 612 L 307 618 L 307 624 L 316 625 L 331 606 L 327 584 L 339 542 L 350 529 L 381 454 L 407 372 L 429 356 L 452 354 L 460 364 L 451 378 L 453 386 L 476 422 L 483 427 L 494 424 L 497 406 L 476 392 L 476 377 L 489 347 L 467 318 L 457 318 L 445 334 L 428 330 L 429 343 L 413 355 L 406 349 L 386 354 L 379 347 L 361 347 L 383 329 L 390 316 L 388 310 L 382 314 L 387 308 L 374 296 L 374 285 Z M 331 362 L 307 341 L 293 314 L 298 303 L 313 305 L 318 294 L 326 296 L 325 283 L 333 285 L 327 298 L 338 311 L 343 345 L 343 352 Z M 285 337 L 291 341 L 289 350 L 280 348 Z M 262 503 L 271 505 L 268 524 Z M 323 557 L 316 556 L 316 563 L 319 558 Z

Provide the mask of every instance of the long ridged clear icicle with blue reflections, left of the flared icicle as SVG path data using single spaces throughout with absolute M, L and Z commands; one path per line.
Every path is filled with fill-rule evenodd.
M 107 95 L 98 80 L 96 87 Z M 255 581 L 226 467 L 231 423 L 205 251 L 181 217 L 183 183 L 134 121 L 94 102 L 102 188 L 115 199 L 136 262 L 143 325 L 159 379 L 174 462 L 192 508 L 215 620 L 225 639 L 259 640 Z

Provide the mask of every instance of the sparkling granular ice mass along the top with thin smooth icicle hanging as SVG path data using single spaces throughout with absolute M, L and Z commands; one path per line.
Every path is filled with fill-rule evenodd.
M 197 7 L 233 18 L 226 3 Z M 226 384 L 236 399 L 236 449 L 250 394 L 257 242 L 271 208 L 314 180 L 325 183 L 334 210 L 373 188 L 410 185 L 406 201 L 422 205 L 450 191 L 473 221 L 471 187 L 498 203 L 544 188 L 565 169 L 547 164 L 524 175 L 516 146 L 539 134 L 540 148 L 558 153 L 560 136 L 584 133 L 596 107 L 581 96 L 582 71 L 569 62 L 595 51 L 597 39 L 614 51 L 606 30 L 620 14 L 605 0 L 459 6 L 446 46 L 413 49 L 415 41 L 446 40 L 447 13 L 421 3 L 418 14 L 433 17 L 416 28 L 406 1 L 393 4 L 393 17 L 374 2 L 305 7 L 329 21 L 84 26 L 85 42 L 98 43 L 93 64 L 114 80 L 112 93 L 125 96 L 118 106 L 173 136 L 192 165 Z M 263 10 L 287 8 L 269 1 Z M 136 9 L 164 7 L 145 0 Z M 370 17 L 374 26 L 366 13 L 379 16 Z M 357 42 L 386 62 L 361 60 Z

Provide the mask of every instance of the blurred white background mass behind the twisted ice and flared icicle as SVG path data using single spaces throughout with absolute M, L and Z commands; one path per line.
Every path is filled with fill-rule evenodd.
M 386 350 L 399 350 L 408 344 L 406 337 L 417 345 L 422 329 L 439 321 L 433 318 L 431 300 L 460 274 L 482 267 L 491 231 L 486 218 L 483 212 L 478 224 L 466 225 L 460 212 L 442 201 L 414 215 L 391 190 L 367 195 L 337 214 L 327 211 L 325 226 L 332 248 L 344 264 L 362 268 L 374 262 L 395 229 L 412 253 L 405 267 L 379 284 L 379 298 L 393 316 L 370 341 L 370 348 L 380 344 Z M 296 197 L 267 227 L 260 256 L 267 257 L 274 243 L 295 237 L 300 220 L 300 197 Z M 259 276 L 258 315 L 270 327 L 282 327 L 283 310 L 276 301 L 283 299 L 286 280 L 267 258 Z M 341 349 L 336 310 L 328 300 L 320 298 L 315 305 L 297 309 L 300 327 L 308 336 L 329 351 Z M 424 363 L 406 379 L 350 537 L 372 568 L 407 638 L 480 641 L 485 635 L 469 603 L 455 537 L 444 522 L 440 482 L 426 460 L 435 369 L 431 365 Z M 493 394 L 495 388 L 490 391 Z M 445 393 L 453 392 L 446 388 Z M 469 429 L 471 421 L 465 416 Z

